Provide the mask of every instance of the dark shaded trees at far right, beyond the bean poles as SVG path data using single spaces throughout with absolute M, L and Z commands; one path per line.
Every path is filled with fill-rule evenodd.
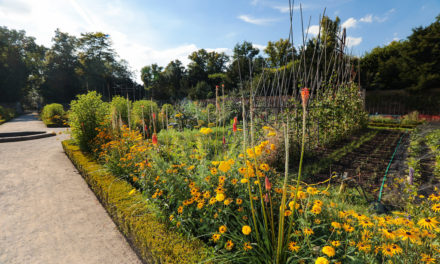
M 440 16 L 399 42 L 377 47 L 361 59 L 367 89 L 427 90 L 440 87 Z

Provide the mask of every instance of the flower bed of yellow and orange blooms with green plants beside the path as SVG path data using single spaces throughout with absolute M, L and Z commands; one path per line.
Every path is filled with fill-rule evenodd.
M 416 263 L 438 258 L 440 194 L 416 210 L 402 206 L 402 212 L 375 216 L 366 206 L 349 203 L 350 194 L 337 194 L 328 182 L 317 188 L 289 171 L 295 159 L 302 160 L 301 149 L 318 151 L 365 126 L 355 90 L 342 91 L 328 93 L 330 107 L 309 111 L 304 92 L 302 107 L 299 103 L 287 110 L 293 113 L 281 113 L 287 119 L 283 123 L 243 112 L 248 118 L 239 119 L 222 103 L 159 110 L 151 101 L 104 103 L 92 92 L 72 102 L 69 123 L 75 142 L 141 192 L 157 208 L 161 223 L 211 247 L 211 261 Z M 347 148 L 358 148 L 376 133 L 329 155 L 341 159 Z M 285 172 L 280 159 L 286 161 Z M 414 186 L 399 184 L 407 190 L 402 196 L 414 200 Z

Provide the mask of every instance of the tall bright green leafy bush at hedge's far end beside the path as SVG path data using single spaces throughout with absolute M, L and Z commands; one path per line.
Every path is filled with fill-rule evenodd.
M 70 103 L 69 124 L 74 140 L 82 150 L 93 149 L 92 140 L 98 134 L 97 128 L 104 124 L 108 105 L 96 91 L 78 95 L 78 100 Z

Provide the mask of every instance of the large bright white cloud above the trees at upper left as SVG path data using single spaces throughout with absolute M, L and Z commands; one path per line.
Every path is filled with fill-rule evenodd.
M 46 47 L 52 46 L 55 29 L 79 37 L 80 33 L 101 31 L 110 35 L 113 48 L 120 58 L 128 61 L 140 80 L 140 69 L 157 63 L 166 66 L 179 59 L 189 63 L 188 55 L 199 49 L 193 43 L 182 43 L 162 48 L 163 32 L 157 32 L 141 11 L 128 8 L 121 1 L 87 0 L 0 0 L 0 25 L 10 29 L 25 30 L 28 36 Z M 177 23 L 177 22 L 176 22 Z M 217 52 L 232 54 L 227 48 L 212 48 Z

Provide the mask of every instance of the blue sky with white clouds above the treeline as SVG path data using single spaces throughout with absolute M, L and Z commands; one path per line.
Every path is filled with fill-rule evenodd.
M 310 36 L 320 15 L 339 16 L 347 28 L 352 54 L 406 38 L 411 29 L 434 22 L 440 0 L 295 1 L 294 42 L 310 19 Z M 24 29 L 39 44 L 51 45 L 54 30 L 110 34 L 115 50 L 134 71 L 152 63 L 165 66 L 205 48 L 232 53 L 237 42 L 264 48 L 289 33 L 288 0 L 0 0 L 0 25 Z M 137 76 L 139 80 L 139 77 Z

